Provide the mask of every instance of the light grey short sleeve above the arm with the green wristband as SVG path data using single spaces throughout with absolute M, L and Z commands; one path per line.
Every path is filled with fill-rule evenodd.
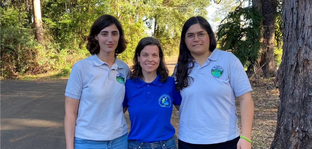
M 235 56 L 234 56 L 235 57 Z M 231 64 L 231 63 L 230 63 Z M 238 58 L 235 57 L 230 67 L 230 85 L 236 97 L 252 91 L 247 74 Z

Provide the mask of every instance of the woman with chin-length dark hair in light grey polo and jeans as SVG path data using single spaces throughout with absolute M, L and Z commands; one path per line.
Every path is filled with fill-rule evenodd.
M 117 59 L 126 49 L 124 31 L 103 15 L 87 40 L 91 56 L 73 66 L 65 91 L 66 148 L 127 148 L 122 102 L 129 67 Z

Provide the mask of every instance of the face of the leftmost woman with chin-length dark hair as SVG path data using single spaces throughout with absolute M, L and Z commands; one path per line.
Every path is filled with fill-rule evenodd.
M 119 41 L 119 31 L 115 24 L 112 24 L 95 36 L 100 45 L 100 53 L 103 54 L 115 54 L 115 49 L 117 48 Z

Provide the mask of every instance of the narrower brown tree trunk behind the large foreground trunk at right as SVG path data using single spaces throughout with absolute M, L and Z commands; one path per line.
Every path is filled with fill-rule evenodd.
M 274 41 L 275 41 L 275 15 L 277 13 L 276 0 L 263 0 L 262 15 L 263 20 L 263 48 L 261 58 L 259 59 L 260 66 L 264 77 L 276 76 L 276 63 L 274 59 Z

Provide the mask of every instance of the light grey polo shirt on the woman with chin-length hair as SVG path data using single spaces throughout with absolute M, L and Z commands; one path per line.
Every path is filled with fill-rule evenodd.
M 113 140 L 127 133 L 122 111 L 129 67 L 116 58 L 111 68 L 92 55 L 72 68 L 65 96 L 80 100 L 75 137 Z

